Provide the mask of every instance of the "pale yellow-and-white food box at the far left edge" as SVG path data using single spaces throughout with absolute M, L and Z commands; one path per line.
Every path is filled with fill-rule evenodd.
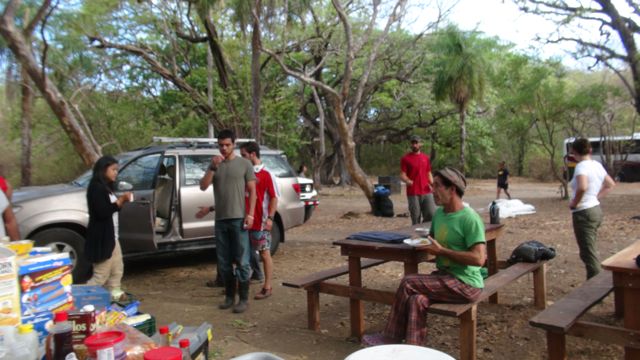
M 20 324 L 20 290 L 16 254 L 0 247 L 0 326 Z

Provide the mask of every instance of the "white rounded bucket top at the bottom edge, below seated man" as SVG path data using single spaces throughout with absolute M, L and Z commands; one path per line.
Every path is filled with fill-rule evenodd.
M 345 360 L 455 360 L 434 349 L 415 345 L 379 345 L 358 350 Z

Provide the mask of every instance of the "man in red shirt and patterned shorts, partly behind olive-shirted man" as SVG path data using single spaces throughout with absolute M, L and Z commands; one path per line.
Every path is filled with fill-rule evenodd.
M 264 168 L 260 160 L 260 145 L 255 141 L 240 146 L 240 155 L 251 161 L 256 175 L 256 207 L 253 212 L 253 223 L 249 226 L 251 251 L 258 251 L 264 265 L 264 285 L 254 299 L 262 300 L 271 296 L 273 287 L 273 261 L 271 260 L 271 228 L 278 206 L 278 188 L 273 175 Z M 246 199 L 247 203 L 249 198 Z M 246 207 L 249 209 L 249 207 Z

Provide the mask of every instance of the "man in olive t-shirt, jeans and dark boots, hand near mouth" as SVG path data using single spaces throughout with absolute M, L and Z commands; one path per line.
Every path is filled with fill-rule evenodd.
M 219 308 L 228 309 L 233 306 L 233 312 L 241 313 L 247 309 L 249 299 L 251 245 L 247 229 L 253 224 L 256 176 L 251 162 L 233 152 L 235 141 L 233 131 L 220 131 L 220 155 L 211 158 L 207 172 L 200 179 L 200 190 L 205 191 L 213 183 L 216 203 L 216 254 L 225 287 L 225 300 Z M 249 211 L 245 210 L 245 191 L 249 193 Z M 235 306 L 236 279 L 233 263 L 237 264 L 239 292 L 239 301 Z

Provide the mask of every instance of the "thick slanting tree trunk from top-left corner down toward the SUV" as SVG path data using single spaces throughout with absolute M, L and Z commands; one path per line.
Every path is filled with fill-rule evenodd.
M 7 7 L 9 6 L 15 6 L 15 3 L 8 4 Z M 0 17 L 0 35 L 4 37 L 11 52 L 44 96 L 83 162 L 87 166 L 93 165 L 100 157 L 100 153 L 91 146 L 91 142 L 78 124 L 67 100 L 36 63 L 23 35 L 13 23 L 12 11 L 5 11 Z

